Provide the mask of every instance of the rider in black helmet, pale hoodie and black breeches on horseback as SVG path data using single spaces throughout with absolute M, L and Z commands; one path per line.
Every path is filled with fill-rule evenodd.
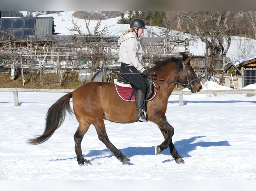
M 130 28 L 118 40 L 120 72 L 137 90 L 135 92 L 136 118 L 146 121 L 145 95 L 147 84 L 144 77 L 149 77 L 148 71 L 141 64 L 142 48 L 139 37 L 144 33 L 145 23 L 141 19 L 133 19 Z M 144 76 L 144 77 L 143 77 Z

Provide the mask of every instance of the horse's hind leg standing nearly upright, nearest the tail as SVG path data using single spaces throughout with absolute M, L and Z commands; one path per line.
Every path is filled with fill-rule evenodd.
M 77 162 L 79 165 L 83 164 L 91 164 L 91 162 L 83 157 L 82 148 L 81 148 L 81 142 L 83 140 L 83 137 L 85 133 L 88 131 L 90 127 L 90 123 L 80 123 L 78 126 L 78 129 L 76 133 L 74 134 L 74 140 L 75 140 L 75 151 L 77 154 Z

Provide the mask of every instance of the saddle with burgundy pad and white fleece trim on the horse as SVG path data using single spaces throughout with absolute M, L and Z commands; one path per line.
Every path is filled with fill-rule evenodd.
M 130 82 L 128 82 L 123 76 L 120 74 L 116 74 L 116 79 L 114 79 L 114 85 L 117 91 L 117 94 L 121 99 L 125 101 L 135 101 L 134 92 L 137 90 L 133 87 Z M 150 101 L 155 98 L 157 93 L 157 88 L 150 78 L 145 78 L 145 82 L 147 84 L 147 94 L 145 97 L 146 101 Z

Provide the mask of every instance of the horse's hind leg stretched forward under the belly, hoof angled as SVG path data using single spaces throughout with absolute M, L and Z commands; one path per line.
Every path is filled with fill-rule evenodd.
M 105 124 L 103 119 L 102 120 L 98 120 L 95 124 L 94 124 L 95 128 L 96 128 L 96 132 L 98 134 L 98 138 L 99 140 L 101 140 L 106 147 L 114 153 L 114 155 L 120 159 L 123 163 L 130 161 L 129 158 L 127 158 L 120 150 L 118 150 L 109 140 L 107 132 L 106 132 L 106 128 L 105 128 Z

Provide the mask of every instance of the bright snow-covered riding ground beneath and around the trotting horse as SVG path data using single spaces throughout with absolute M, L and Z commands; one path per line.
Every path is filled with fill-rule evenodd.
M 256 84 L 246 88 L 256 89 Z M 203 84 L 203 90 L 207 89 L 224 87 L 207 82 Z M 185 161 L 183 164 L 176 164 L 168 149 L 154 154 L 154 147 L 163 141 L 154 123 L 105 121 L 111 142 L 131 161 L 121 163 L 98 139 L 91 126 L 82 142 L 82 150 L 92 165 L 79 166 L 74 150 L 73 135 L 78 127 L 74 116 L 68 115 L 45 143 L 27 144 L 28 138 L 43 132 L 48 108 L 65 93 L 18 94 L 20 106 L 14 106 L 13 93 L 0 93 L 0 180 L 9 188 L 28 185 L 28 180 L 33 180 L 29 183 L 32 188 L 41 185 L 37 190 L 45 190 L 46 183 L 40 180 L 87 180 L 87 186 L 95 188 L 98 184 L 102 189 L 104 185 L 125 180 L 122 190 L 128 190 L 130 181 L 136 188 L 144 185 L 136 180 L 146 181 L 146 187 L 140 189 L 147 190 L 158 190 L 163 185 L 170 189 L 171 185 L 176 185 L 193 190 L 190 187 L 194 183 L 190 180 L 207 180 L 200 182 L 201 188 L 204 184 L 207 187 L 205 190 L 222 190 L 226 187 L 220 185 L 225 185 L 226 181 L 231 187 L 235 186 L 228 190 L 248 190 L 255 185 L 256 96 L 184 95 L 184 105 L 179 106 L 178 95 L 171 95 L 166 116 L 174 127 L 173 142 Z M 5 180 L 18 182 L 10 185 Z M 103 181 L 104 185 L 91 180 Z M 110 183 L 109 180 L 113 181 Z M 176 180 L 189 183 L 183 185 Z M 71 190 L 76 183 L 60 184 Z M 81 186 L 86 189 L 83 183 Z

